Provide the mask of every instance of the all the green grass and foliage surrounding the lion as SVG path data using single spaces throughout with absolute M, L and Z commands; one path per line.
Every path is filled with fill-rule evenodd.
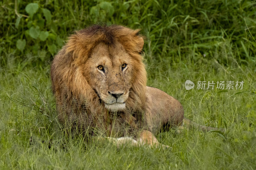
M 256 169 L 255 4 L 0 1 L 0 169 Z M 157 136 L 168 150 L 117 149 L 65 135 L 50 64 L 69 34 L 95 23 L 140 28 L 148 85 L 178 99 L 190 120 L 226 132 L 170 129 Z M 188 91 L 186 80 L 243 80 L 244 87 Z

